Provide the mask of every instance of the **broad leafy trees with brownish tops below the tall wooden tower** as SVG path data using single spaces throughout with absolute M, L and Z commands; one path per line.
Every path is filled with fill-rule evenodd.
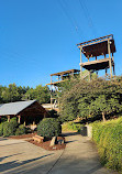
M 60 117 L 73 120 L 77 117 L 109 117 L 122 111 L 122 78 L 91 81 L 74 80 L 70 90 L 63 91 L 60 97 Z

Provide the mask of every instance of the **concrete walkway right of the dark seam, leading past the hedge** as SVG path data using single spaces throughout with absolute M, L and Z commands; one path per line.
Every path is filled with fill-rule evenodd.
M 89 138 L 68 133 L 66 139 L 67 148 L 49 174 L 115 174 L 101 166 Z

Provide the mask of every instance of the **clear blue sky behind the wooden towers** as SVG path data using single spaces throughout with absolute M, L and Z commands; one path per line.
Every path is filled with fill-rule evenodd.
M 121 0 L 0 0 L 0 85 L 35 87 L 52 73 L 79 69 L 76 44 L 108 34 L 121 75 Z

